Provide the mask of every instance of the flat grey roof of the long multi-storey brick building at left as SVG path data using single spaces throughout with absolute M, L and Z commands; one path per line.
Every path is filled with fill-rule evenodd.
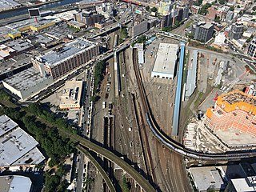
M 67 43 L 60 51 L 50 50 L 41 57 L 36 58 L 38 61 L 42 60 L 42 62 L 44 62 L 46 65 L 54 66 L 57 65 L 59 62 L 66 60 L 67 58 L 73 57 L 74 54 L 78 54 L 79 52 L 82 52 L 93 46 L 95 46 L 93 42 L 78 38 L 73 42 Z

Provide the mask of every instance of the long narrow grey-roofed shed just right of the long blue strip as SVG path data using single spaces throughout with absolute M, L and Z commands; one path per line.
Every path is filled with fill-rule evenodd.
M 193 51 L 193 61 L 190 62 L 187 70 L 186 77 L 186 99 L 189 99 L 190 96 L 194 93 L 195 88 L 197 87 L 197 69 L 198 69 L 198 50 Z

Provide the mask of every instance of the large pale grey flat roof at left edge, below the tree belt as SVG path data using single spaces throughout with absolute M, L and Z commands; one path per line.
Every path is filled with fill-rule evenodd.
M 13 129 L 0 138 L 0 166 L 11 166 L 37 145 L 38 142 L 20 127 Z

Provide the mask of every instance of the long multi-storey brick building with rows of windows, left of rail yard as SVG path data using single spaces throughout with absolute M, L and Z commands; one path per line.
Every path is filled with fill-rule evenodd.
M 50 50 L 46 54 L 36 56 L 31 61 L 33 66 L 43 75 L 49 75 L 54 80 L 62 78 L 70 71 L 94 59 L 99 54 L 99 46 L 83 38 Z

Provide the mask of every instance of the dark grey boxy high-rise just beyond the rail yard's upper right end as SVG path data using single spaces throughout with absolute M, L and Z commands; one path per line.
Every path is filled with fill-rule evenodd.
M 214 26 L 207 22 L 198 22 L 193 27 L 194 39 L 201 42 L 208 42 L 214 34 Z

